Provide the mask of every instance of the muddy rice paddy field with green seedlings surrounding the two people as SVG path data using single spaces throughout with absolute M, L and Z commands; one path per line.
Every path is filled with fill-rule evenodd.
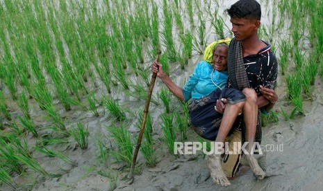
M 259 1 L 259 36 L 279 60 L 279 102 L 262 116 L 270 177 L 214 185 L 188 104 L 157 79 L 135 179 L 127 184 L 160 63 L 182 86 L 210 42 L 233 37 L 224 0 L 1 0 L 0 190 L 317 190 L 322 188 L 323 1 Z M 311 158 L 311 159 L 308 159 Z M 315 162 L 313 162 L 315 161 Z

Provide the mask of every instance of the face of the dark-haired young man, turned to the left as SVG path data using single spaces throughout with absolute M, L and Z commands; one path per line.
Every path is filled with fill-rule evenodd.
M 230 19 L 232 28 L 231 31 L 235 39 L 242 41 L 251 37 L 258 30 L 255 19 L 232 18 Z

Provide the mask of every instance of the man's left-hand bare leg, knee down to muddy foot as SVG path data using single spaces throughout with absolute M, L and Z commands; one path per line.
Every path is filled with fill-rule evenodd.
M 224 110 L 222 122 L 217 132 L 216 143 L 224 143 L 226 136 L 238 116 L 240 109 L 244 106 L 245 102 L 239 102 L 236 104 L 227 104 Z M 208 167 L 210 169 L 210 176 L 216 184 L 230 185 L 229 180 L 226 178 L 221 166 L 221 154 L 210 154 L 208 156 Z

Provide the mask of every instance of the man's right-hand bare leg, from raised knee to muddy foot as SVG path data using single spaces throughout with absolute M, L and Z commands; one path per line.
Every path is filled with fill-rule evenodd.
M 246 102 L 243 107 L 244 120 L 246 126 L 246 139 L 248 141 L 247 152 L 249 154 L 245 154 L 245 157 L 249 161 L 249 165 L 251 170 L 254 172 L 258 179 L 263 179 L 265 177 L 265 172 L 261 169 L 258 164 L 256 158 L 254 158 L 252 147 L 254 145 L 254 137 L 256 135 L 256 125 L 257 125 L 257 117 L 258 117 L 258 106 L 257 106 L 257 95 L 254 89 L 243 89 L 242 91 L 245 93 Z

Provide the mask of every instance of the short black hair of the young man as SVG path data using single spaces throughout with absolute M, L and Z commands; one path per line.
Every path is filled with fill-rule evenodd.
M 255 0 L 240 0 L 235 2 L 226 12 L 231 18 L 257 19 L 260 21 L 261 8 Z

